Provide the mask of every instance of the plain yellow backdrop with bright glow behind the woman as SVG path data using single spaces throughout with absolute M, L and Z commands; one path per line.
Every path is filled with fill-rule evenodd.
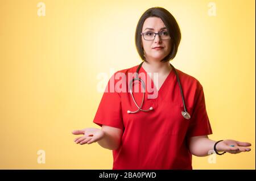
M 97 75 L 138 65 L 134 33 L 150 7 L 175 16 L 181 43 L 172 64 L 204 87 L 212 140 L 251 151 L 193 157 L 193 169 L 255 169 L 255 2 L 0 1 L 0 169 L 112 169 L 112 151 L 76 145 L 102 92 Z M 217 16 L 209 16 L 209 2 Z M 38 150 L 46 151 L 39 164 Z

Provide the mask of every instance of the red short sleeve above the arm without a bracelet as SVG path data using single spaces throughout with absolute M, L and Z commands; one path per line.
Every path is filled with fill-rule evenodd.
M 115 75 L 115 74 L 114 74 Z M 109 79 L 108 85 L 102 95 L 93 123 L 123 129 L 121 95 L 115 91 L 114 75 Z

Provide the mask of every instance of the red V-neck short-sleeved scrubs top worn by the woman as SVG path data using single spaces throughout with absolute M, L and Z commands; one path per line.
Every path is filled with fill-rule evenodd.
M 187 138 L 212 134 L 203 87 L 196 78 L 176 69 L 190 120 L 181 115 L 184 108 L 174 70 L 168 74 L 156 98 L 148 99 L 147 95 L 153 92 L 146 90 L 142 109 L 153 107 L 154 110 L 127 113 L 127 110 L 138 109 L 127 91 L 128 73 L 135 73 L 138 66 L 112 75 L 93 120 L 97 125 L 123 130 L 121 145 L 113 150 L 113 169 L 192 169 L 192 154 L 188 149 Z M 121 86 L 118 73 L 126 74 L 126 87 Z M 139 77 L 146 85 L 147 80 L 154 85 L 149 75 L 143 78 L 140 73 L 148 75 L 142 67 Z M 112 81 L 114 85 L 126 89 L 126 92 L 110 91 Z M 134 89 L 136 85 L 138 83 L 135 83 Z M 157 91 L 155 86 L 153 88 Z M 138 105 L 141 104 L 142 95 L 142 92 L 134 92 Z

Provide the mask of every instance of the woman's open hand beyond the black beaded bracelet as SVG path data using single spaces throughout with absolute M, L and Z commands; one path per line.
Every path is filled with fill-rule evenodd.
M 237 154 L 251 149 L 247 146 L 251 146 L 249 142 L 240 142 L 236 140 L 224 140 L 218 142 L 216 145 L 217 151 L 226 151 L 228 153 Z

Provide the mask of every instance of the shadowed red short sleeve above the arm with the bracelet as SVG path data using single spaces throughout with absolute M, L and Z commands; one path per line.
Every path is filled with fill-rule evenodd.
M 187 137 L 204 136 L 208 134 L 212 134 L 212 128 L 210 127 L 210 121 L 205 106 L 203 86 L 199 83 L 199 86 L 197 86 L 193 113 L 191 116 L 191 123 L 188 127 Z

